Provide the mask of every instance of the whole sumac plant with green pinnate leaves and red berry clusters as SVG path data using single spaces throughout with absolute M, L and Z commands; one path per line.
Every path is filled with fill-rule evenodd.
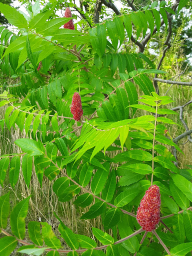
M 20 172 L 28 187 L 34 171 L 40 185 L 52 184 L 58 201 L 86 207 L 79 222 L 99 216 L 102 222 L 91 238 L 69 229 L 59 212 L 58 237 L 47 222 L 29 221 L 26 228 L 32 197 L 10 207 L 8 192 L 0 197 L 0 255 L 18 242 L 18 252 L 32 255 L 190 254 L 191 172 L 173 163 L 168 148 L 182 153 L 167 132 L 175 111 L 151 82 L 163 71 L 133 46 L 120 51 L 131 33 L 139 40 L 146 31 L 158 33 L 161 20 L 167 25 L 174 10 L 159 3 L 89 29 L 79 29 L 69 8 L 55 17 L 54 1 L 43 9 L 35 1 L 27 15 L 0 3 L 17 28 L 0 27 L 0 68 L 11 77 L 0 94 L 6 108 L 0 124 L 22 134 L 15 140 L 21 153 L 0 155 L 0 184 L 9 170 L 11 189 Z M 186 3 L 177 0 L 175 8 Z

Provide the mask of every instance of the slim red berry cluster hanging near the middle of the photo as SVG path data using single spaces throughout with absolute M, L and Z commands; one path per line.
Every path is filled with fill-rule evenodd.
M 71 103 L 70 111 L 73 115 L 73 118 L 76 121 L 79 121 L 83 114 L 83 110 L 82 110 L 80 95 L 78 94 L 78 92 L 74 92 L 74 94 L 72 96 L 72 103 Z

